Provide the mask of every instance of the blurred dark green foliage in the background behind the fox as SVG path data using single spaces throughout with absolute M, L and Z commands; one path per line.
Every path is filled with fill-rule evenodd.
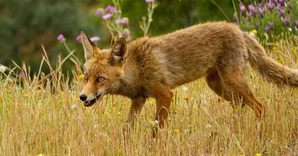
M 227 20 L 220 9 L 210 0 L 159 0 L 159 6 L 153 14 L 149 31 L 150 36 L 160 35 L 206 21 Z M 230 0 L 214 1 L 227 16 L 233 17 L 234 8 Z M 249 1 L 244 1 L 248 3 Z M 238 3 L 238 2 L 237 2 Z M 68 52 L 64 45 L 56 40 L 59 34 L 67 39 L 68 46 L 77 49 L 75 55 L 83 59 L 81 43 L 76 41 L 80 31 L 89 37 L 99 36 L 98 47 L 108 48 L 111 35 L 103 19 L 96 17 L 97 8 L 113 5 L 111 0 L 10 0 L 0 1 L 0 63 L 12 66 L 11 60 L 20 64 L 24 61 L 31 66 L 31 74 L 37 72 L 42 59 L 41 44 L 47 51 L 51 65 L 56 65 L 57 55 L 65 57 Z M 129 29 L 133 39 L 143 36 L 139 21 L 146 15 L 145 0 L 121 1 L 123 17 L 130 20 Z M 68 60 L 64 73 L 72 68 Z M 49 72 L 46 65 L 42 71 Z

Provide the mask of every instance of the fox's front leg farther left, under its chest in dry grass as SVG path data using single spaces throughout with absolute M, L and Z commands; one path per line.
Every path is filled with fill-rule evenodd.
M 142 96 L 131 99 L 130 109 L 128 113 L 128 122 L 130 122 L 130 127 L 134 127 L 135 119 L 138 120 L 145 102 L 146 97 Z

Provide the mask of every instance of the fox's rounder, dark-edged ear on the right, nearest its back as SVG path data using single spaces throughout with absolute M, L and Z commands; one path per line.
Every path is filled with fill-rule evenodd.
M 113 63 L 124 63 L 128 53 L 126 40 L 123 38 L 117 39 L 112 47 L 111 53 Z

